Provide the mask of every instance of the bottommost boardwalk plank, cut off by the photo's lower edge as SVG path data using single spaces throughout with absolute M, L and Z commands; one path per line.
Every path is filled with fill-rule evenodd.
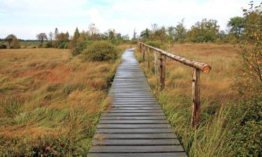
M 184 152 L 172 152 L 172 153 L 128 153 L 128 154 L 119 154 L 119 153 L 107 153 L 107 154 L 96 154 L 90 153 L 87 157 L 187 157 L 187 154 Z

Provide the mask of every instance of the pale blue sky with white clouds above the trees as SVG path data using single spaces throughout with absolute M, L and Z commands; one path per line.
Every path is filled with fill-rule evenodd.
M 261 0 L 254 0 L 259 4 Z M 242 16 L 247 0 L 0 0 L 0 38 L 14 33 L 36 39 L 37 33 L 115 29 L 133 36 L 151 24 L 175 26 L 184 18 L 187 29 L 203 18 L 218 20 L 221 29 L 231 17 Z

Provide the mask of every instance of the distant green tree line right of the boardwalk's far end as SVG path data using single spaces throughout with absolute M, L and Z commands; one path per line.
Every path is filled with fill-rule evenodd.
M 175 26 L 159 27 L 152 24 L 152 28 L 141 31 L 137 36 L 133 33 L 133 39 L 140 40 L 191 40 L 210 41 L 220 43 L 236 43 L 244 32 L 245 17 L 232 17 L 227 24 L 227 31 L 220 30 L 217 20 L 203 19 L 196 22 L 190 29 L 184 26 L 184 19 L 177 22 Z

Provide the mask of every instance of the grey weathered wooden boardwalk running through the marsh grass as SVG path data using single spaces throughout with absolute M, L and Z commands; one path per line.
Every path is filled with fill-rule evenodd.
M 112 109 L 103 114 L 88 157 L 187 156 L 152 96 L 133 50 L 126 50 L 110 89 Z

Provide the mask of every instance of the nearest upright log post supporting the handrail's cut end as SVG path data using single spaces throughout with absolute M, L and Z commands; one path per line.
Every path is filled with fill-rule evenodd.
M 191 126 L 194 127 L 200 122 L 200 112 L 201 112 L 201 103 L 200 103 L 200 73 L 201 70 L 193 68 L 193 77 L 192 77 L 192 114 L 191 114 Z

